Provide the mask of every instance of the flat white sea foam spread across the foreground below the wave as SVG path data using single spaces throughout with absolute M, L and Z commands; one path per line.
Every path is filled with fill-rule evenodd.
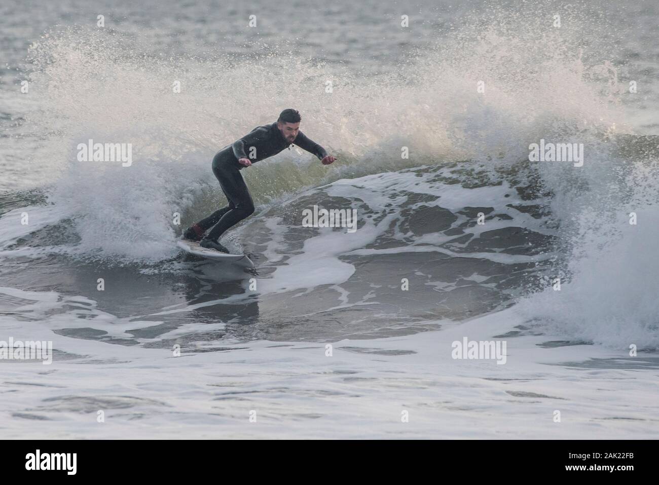
M 52 334 L 54 348 L 68 354 L 56 354 L 47 371 L 0 362 L 5 437 L 656 436 L 656 371 L 652 364 L 643 370 L 656 354 L 633 359 L 592 345 L 537 347 L 559 338 L 546 335 L 507 337 L 505 365 L 451 358 L 455 340 L 490 340 L 523 323 L 506 310 L 461 325 L 444 322 L 442 331 L 333 342 L 332 357 L 324 343 L 229 341 L 223 346 L 234 350 L 173 357 L 172 349 Z M 26 328 L 3 317 L 2 324 L 36 338 L 50 322 Z M 97 422 L 98 411 L 105 422 Z M 403 411 L 409 422 L 401 422 Z M 43 426 L 25 426 L 28 420 Z

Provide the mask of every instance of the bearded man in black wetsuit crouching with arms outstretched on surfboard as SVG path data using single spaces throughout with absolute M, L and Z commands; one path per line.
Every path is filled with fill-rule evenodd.
M 302 117 L 295 109 L 281 111 L 279 119 L 272 125 L 256 127 L 231 145 L 222 148 L 213 158 L 213 174 L 219 181 L 229 205 L 215 211 L 198 223 L 188 227 L 183 237 L 200 241 L 200 246 L 229 253 L 219 243 L 219 238 L 229 227 L 233 227 L 254 212 L 254 202 L 240 171 L 264 158 L 272 157 L 285 148 L 296 144 L 302 150 L 314 154 L 324 165 L 335 161 L 322 146 L 310 140 L 300 131 Z M 212 228 L 212 229 L 211 229 Z M 208 231 L 210 229 L 210 231 Z M 205 234 L 208 231 L 208 234 Z

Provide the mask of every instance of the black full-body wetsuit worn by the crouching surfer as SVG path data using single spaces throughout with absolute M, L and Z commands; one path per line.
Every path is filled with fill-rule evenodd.
M 292 142 L 302 150 L 314 154 L 318 159 L 327 156 L 322 146 L 313 142 L 300 131 Z M 213 158 L 213 173 L 219 181 L 229 206 L 215 211 L 213 214 L 202 219 L 196 225 L 206 231 L 213 229 L 206 235 L 208 239 L 217 241 L 229 227 L 239 223 L 245 217 L 254 212 L 254 202 L 249 190 L 244 183 L 240 170 L 243 165 L 238 162 L 239 158 L 246 158 L 252 163 L 264 158 L 272 157 L 285 148 L 289 148 L 291 142 L 281 134 L 277 123 L 256 127 L 231 145 L 227 145 L 215 154 Z

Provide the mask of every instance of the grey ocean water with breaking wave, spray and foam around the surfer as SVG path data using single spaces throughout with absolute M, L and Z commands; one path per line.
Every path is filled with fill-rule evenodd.
M 659 5 L 453 4 L 3 3 L 0 341 L 54 349 L 0 358 L 4 435 L 656 438 Z M 242 171 L 255 268 L 181 254 L 286 107 L 337 162 Z

